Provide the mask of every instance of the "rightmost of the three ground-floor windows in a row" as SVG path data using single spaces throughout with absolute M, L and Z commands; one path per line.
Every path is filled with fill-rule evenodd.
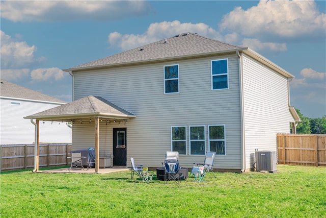
M 209 151 L 225 155 L 225 125 L 208 126 Z

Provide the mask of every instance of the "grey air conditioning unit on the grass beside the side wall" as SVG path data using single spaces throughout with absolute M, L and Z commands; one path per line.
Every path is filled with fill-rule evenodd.
M 276 173 L 276 152 L 275 151 L 256 151 L 256 170 Z

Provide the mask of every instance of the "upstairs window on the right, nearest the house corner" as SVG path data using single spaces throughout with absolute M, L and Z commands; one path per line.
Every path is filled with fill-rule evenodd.
M 229 87 L 228 72 L 228 59 L 211 61 L 212 90 Z

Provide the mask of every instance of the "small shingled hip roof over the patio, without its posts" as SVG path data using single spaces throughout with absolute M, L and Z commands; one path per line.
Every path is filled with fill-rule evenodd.
M 33 118 L 39 120 L 70 120 L 75 118 L 79 119 L 95 116 L 117 119 L 128 119 L 135 117 L 135 115 L 132 113 L 129 113 L 128 111 L 101 97 L 89 95 L 82 99 L 78 99 L 65 105 L 29 115 L 24 118 Z

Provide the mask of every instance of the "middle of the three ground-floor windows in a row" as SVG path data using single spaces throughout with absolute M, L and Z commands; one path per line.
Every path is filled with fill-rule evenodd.
M 205 155 L 205 126 L 190 126 L 190 154 Z

